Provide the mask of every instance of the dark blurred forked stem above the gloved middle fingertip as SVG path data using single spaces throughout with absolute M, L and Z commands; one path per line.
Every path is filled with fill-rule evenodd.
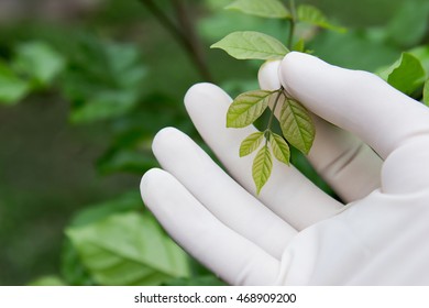
M 139 0 L 172 34 L 172 36 L 184 47 L 189 58 L 194 62 L 198 73 L 206 81 L 213 81 L 207 62 L 200 48 L 200 42 L 196 35 L 194 25 L 184 7 L 183 1 L 173 0 L 176 10 L 178 22 L 182 26 L 177 26 L 165 13 L 161 10 L 153 0 Z

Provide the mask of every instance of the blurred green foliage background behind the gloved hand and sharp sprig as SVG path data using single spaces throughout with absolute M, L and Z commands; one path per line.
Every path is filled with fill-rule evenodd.
M 287 23 L 231 2 L 0 0 L 0 285 L 223 284 L 164 233 L 139 183 L 161 128 L 206 148 L 183 106 L 193 84 L 257 87 L 261 62 L 211 44 L 238 30 L 286 41 Z M 300 3 L 348 29 L 299 30 L 324 61 L 378 72 L 409 51 L 429 70 L 429 1 Z

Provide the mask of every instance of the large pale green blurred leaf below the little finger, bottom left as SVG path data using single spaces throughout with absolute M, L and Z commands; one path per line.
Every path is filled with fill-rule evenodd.
M 147 212 L 113 215 L 66 234 L 100 285 L 161 285 L 189 275 L 186 254 Z

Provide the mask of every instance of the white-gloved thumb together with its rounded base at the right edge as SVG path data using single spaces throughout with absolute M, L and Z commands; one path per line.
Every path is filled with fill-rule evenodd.
M 382 190 L 408 194 L 429 180 L 429 109 L 377 76 L 289 53 L 279 78 L 310 111 L 369 144 L 384 160 Z

